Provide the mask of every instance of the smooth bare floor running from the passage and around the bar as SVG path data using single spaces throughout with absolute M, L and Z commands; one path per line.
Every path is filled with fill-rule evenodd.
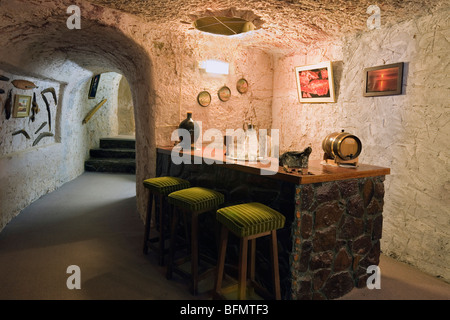
M 153 253 L 142 253 L 135 176 L 86 172 L 35 201 L 0 232 L 2 300 L 208 300 L 167 280 Z M 69 290 L 67 268 L 80 268 Z M 341 300 L 448 300 L 450 284 L 382 256 L 381 289 L 354 289 Z

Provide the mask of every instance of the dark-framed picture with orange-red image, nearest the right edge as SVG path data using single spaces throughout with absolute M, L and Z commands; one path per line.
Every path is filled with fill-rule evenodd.
M 402 93 L 403 62 L 364 69 L 364 97 Z

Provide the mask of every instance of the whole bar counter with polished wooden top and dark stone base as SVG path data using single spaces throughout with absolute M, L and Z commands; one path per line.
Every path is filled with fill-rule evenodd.
M 364 287 L 370 265 L 378 265 L 383 222 L 384 176 L 389 168 L 359 164 L 342 168 L 310 161 L 308 174 L 246 161 L 230 162 L 222 152 L 204 157 L 187 151 L 190 161 L 175 164 L 172 147 L 157 148 L 157 176 L 187 179 L 192 186 L 225 195 L 224 206 L 257 201 L 278 210 L 286 224 L 278 231 L 283 299 L 335 299 Z M 206 161 L 205 161 L 206 160 Z M 209 161 L 208 161 L 209 160 Z M 211 160 L 215 160 L 213 164 Z M 264 174 L 261 174 L 261 173 Z M 214 216 L 203 220 L 200 244 L 215 257 Z M 203 239 L 203 241 L 202 241 Z M 227 261 L 237 261 L 238 243 L 230 239 Z M 257 244 L 257 280 L 269 290 L 269 244 Z

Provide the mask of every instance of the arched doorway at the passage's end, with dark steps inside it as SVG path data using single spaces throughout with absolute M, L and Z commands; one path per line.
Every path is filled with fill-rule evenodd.
M 88 94 L 81 99 L 86 101 L 89 119 L 85 171 L 136 173 L 134 105 L 126 77 L 116 72 L 97 74 L 85 88 Z

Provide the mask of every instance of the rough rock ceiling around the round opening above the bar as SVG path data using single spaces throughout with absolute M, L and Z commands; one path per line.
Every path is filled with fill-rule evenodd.
M 137 15 L 160 28 L 194 33 L 195 19 L 205 16 L 240 17 L 256 26 L 248 45 L 293 49 L 333 41 L 368 31 L 367 20 L 380 9 L 381 26 L 430 14 L 449 6 L 448 0 L 89 0 Z

